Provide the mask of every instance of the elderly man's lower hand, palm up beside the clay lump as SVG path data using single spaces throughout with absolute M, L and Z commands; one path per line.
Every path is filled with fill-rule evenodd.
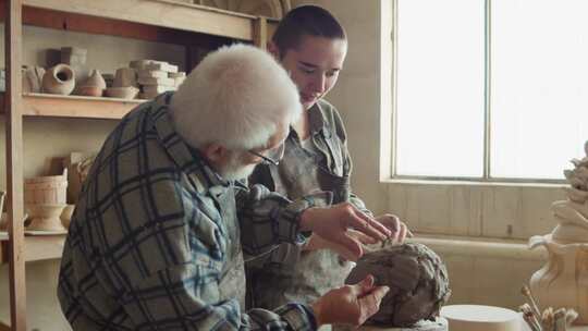
M 380 303 L 390 291 L 388 286 L 373 286 L 373 277 L 355 285 L 329 291 L 313 304 L 317 324 L 352 324 L 358 327 L 378 312 Z

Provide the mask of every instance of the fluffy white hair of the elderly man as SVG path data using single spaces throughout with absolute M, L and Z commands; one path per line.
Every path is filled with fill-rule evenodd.
M 302 112 L 296 85 L 268 52 L 247 45 L 208 54 L 172 97 L 177 133 L 193 147 L 265 146 Z

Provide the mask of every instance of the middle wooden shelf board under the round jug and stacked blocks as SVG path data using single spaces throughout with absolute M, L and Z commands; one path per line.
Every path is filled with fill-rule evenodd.
M 1 94 L 1 113 L 4 113 L 3 98 L 4 94 Z M 145 101 L 147 100 L 23 94 L 23 115 L 118 120 Z

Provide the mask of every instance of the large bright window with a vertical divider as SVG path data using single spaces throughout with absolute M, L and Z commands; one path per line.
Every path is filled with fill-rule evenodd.
M 588 139 L 586 0 L 396 0 L 393 175 L 560 181 Z

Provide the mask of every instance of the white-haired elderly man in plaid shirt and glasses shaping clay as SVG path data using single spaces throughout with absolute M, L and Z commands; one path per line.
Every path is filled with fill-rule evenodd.
M 313 231 L 356 253 L 355 228 L 390 231 L 348 204 L 318 208 L 240 182 L 279 161 L 301 113 L 287 73 L 250 46 L 208 56 L 175 94 L 127 114 L 98 154 L 74 211 L 58 295 L 75 330 L 314 330 L 360 324 L 388 287 L 367 278 L 307 305 L 243 312 L 243 252 Z M 243 249 L 243 250 L 242 250 Z

